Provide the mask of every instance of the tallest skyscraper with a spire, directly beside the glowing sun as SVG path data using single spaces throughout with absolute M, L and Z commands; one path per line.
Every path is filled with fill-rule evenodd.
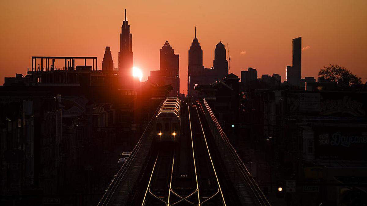
M 120 51 L 119 51 L 119 73 L 123 78 L 132 76 L 132 67 L 134 59 L 132 55 L 132 34 L 130 33 L 130 25 L 126 20 L 123 21 L 120 34 Z

